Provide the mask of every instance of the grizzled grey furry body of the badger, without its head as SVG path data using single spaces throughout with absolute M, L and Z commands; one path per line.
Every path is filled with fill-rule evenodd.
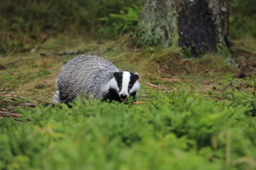
M 108 92 L 108 82 L 113 71 L 120 71 L 108 60 L 93 56 L 79 55 L 67 62 L 57 78 L 59 100 L 66 104 L 72 102 L 84 91 L 85 99 L 104 96 Z

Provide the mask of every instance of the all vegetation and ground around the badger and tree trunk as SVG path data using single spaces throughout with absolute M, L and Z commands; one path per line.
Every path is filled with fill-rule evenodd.
M 200 58 L 135 46 L 140 1 L 57 2 L 0 2 L 0 169 L 256 169 L 253 0 L 230 0 L 232 52 Z M 138 72 L 142 103 L 52 104 L 73 51 Z

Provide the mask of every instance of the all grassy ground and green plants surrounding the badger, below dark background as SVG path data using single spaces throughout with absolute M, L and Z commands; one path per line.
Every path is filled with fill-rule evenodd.
M 2 56 L 1 169 L 255 169 L 256 41 L 232 44 L 232 54 L 189 59 L 176 48 L 135 50 L 127 35 L 106 42 L 64 37 L 34 53 Z M 149 103 L 90 99 L 84 106 L 78 98 L 73 108 L 49 105 L 42 94 L 54 92 L 44 82 L 55 89 L 75 56 L 57 54 L 76 50 L 138 72 L 138 101 Z M 227 63 L 230 57 L 239 65 Z M 246 77 L 234 78 L 239 73 Z

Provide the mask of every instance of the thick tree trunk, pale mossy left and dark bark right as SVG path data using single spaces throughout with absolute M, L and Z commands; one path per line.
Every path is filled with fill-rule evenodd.
M 192 56 L 230 49 L 228 0 L 143 0 L 140 42 L 178 45 Z

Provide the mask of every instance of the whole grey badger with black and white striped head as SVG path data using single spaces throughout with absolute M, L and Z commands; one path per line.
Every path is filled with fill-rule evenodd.
M 79 55 L 67 62 L 58 74 L 56 82 L 56 103 L 73 102 L 81 91 L 84 98 L 102 98 L 101 101 L 134 100 L 140 91 L 139 74 L 121 71 L 108 60 L 96 55 Z

